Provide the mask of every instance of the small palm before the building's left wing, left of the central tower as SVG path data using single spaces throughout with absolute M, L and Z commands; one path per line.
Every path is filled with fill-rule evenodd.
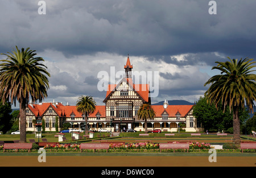
M 92 114 L 96 109 L 96 102 L 91 96 L 81 96 L 76 102 L 76 109 L 85 115 L 85 133 L 88 132 L 88 115 Z

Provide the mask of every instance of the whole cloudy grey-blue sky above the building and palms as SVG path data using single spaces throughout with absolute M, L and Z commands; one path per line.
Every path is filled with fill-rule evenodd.
M 75 105 L 88 95 L 104 105 L 98 73 L 124 71 L 129 53 L 133 71 L 159 74 L 152 103 L 195 102 L 215 61 L 256 58 L 256 1 L 217 0 L 217 14 L 208 0 L 45 0 L 46 14 L 38 2 L 0 0 L 0 52 L 17 45 L 44 58 L 45 101 Z

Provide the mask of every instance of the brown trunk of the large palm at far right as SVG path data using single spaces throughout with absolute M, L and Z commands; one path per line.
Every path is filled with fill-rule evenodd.
M 234 136 L 234 144 L 236 144 L 236 146 L 238 148 L 240 148 L 240 119 L 238 117 L 238 111 L 239 111 L 239 107 L 235 106 L 233 108 L 233 136 Z

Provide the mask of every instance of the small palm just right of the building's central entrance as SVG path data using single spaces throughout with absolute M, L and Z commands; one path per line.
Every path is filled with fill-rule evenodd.
M 155 111 L 150 104 L 143 104 L 138 110 L 138 119 L 145 121 L 145 133 L 147 133 L 147 119 L 154 118 Z

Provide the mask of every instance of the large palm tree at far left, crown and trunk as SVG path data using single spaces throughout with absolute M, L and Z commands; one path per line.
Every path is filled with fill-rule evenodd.
M 26 106 L 29 97 L 32 102 L 41 102 L 47 97 L 49 88 L 48 78 L 50 74 L 46 71 L 42 57 L 34 57 L 35 51 L 30 48 L 20 51 L 16 46 L 13 53 L 1 53 L 7 59 L 0 60 L 0 98 L 3 103 L 11 100 L 11 104 L 19 102 L 20 110 L 20 142 L 26 142 Z

